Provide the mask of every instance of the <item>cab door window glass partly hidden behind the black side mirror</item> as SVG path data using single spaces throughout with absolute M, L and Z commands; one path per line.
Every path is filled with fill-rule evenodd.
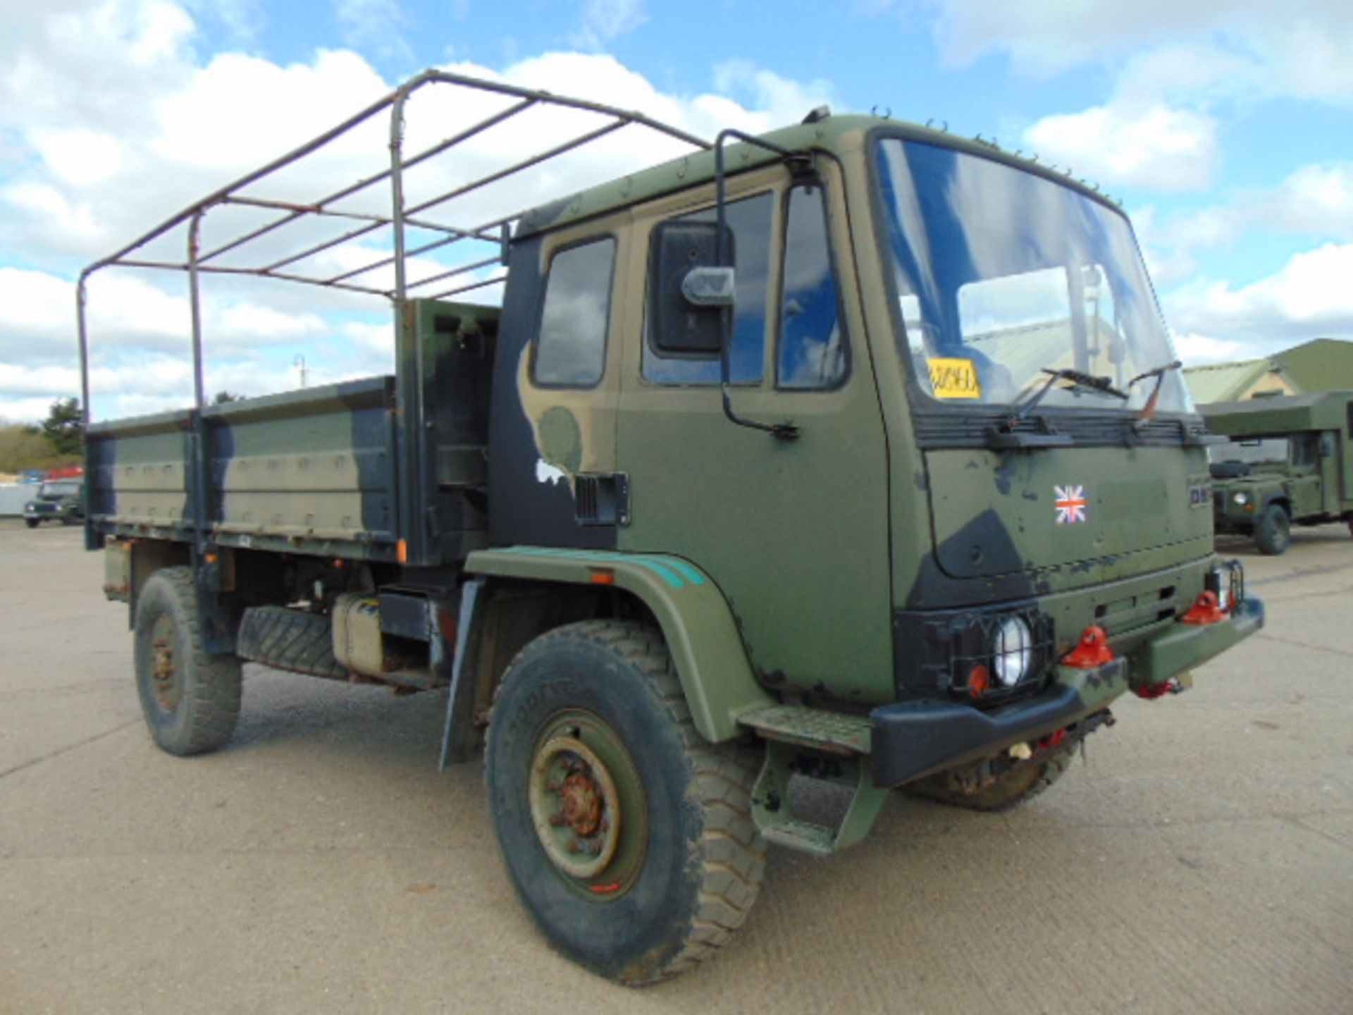
M 728 375 L 735 384 L 759 384 L 766 375 L 766 299 L 770 275 L 771 195 L 729 202 L 725 221 L 733 234 L 737 287 L 733 292 L 733 341 L 728 355 Z M 678 222 L 714 222 L 714 208 L 682 215 Z M 653 230 L 656 242 L 658 230 Z M 652 284 L 652 279 L 649 279 Z M 651 328 L 651 323 L 649 323 Z M 644 341 L 644 380 L 656 384 L 717 384 L 718 357 L 679 357 L 660 353 L 649 332 Z

